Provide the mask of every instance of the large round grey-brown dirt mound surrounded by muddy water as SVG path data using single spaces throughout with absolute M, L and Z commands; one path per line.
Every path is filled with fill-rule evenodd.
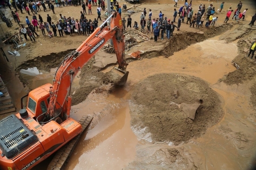
M 178 91 L 178 98 L 174 97 Z M 191 120 L 176 104 L 192 104 L 202 98 L 201 111 Z M 135 85 L 132 102 L 140 106 L 131 110 L 132 127 L 148 127 L 152 142 L 188 142 L 199 137 L 223 116 L 221 101 L 215 91 L 200 78 L 180 74 L 156 74 Z

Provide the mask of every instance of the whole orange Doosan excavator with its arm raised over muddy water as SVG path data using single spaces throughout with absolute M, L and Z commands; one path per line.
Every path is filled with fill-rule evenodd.
M 104 26 L 111 20 L 110 26 Z M 53 85 L 42 85 L 21 98 L 21 110 L 0 120 L 0 170 L 29 170 L 50 155 L 47 170 L 61 170 L 91 122 L 84 116 L 79 122 L 70 118 L 71 84 L 76 74 L 109 40 L 113 40 L 118 67 L 112 70 L 124 85 L 128 78 L 125 62 L 121 16 L 111 16 L 95 29 L 75 51 L 67 54 L 58 67 Z M 27 107 L 23 109 L 23 99 Z

